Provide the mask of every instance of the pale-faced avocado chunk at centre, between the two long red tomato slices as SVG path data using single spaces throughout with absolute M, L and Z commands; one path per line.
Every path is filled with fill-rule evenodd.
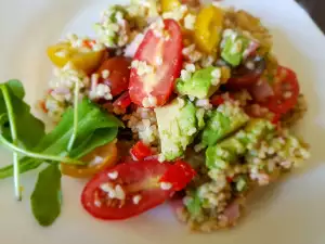
M 155 108 L 161 154 L 167 160 L 183 156 L 186 146 L 193 142 L 198 131 L 196 112 L 191 101 L 180 98 Z

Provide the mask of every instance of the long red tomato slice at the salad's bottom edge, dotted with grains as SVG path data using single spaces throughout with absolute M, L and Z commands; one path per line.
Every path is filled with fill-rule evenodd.
M 112 172 L 118 174 L 117 179 L 108 177 L 108 174 Z M 83 208 L 95 218 L 127 219 L 162 204 L 176 191 L 182 190 L 195 174 L 188 164 L 181 160 L 173 165 L 154 159 L 120 164 L 95 175 L 84 187 L 81 203 Z M 160 182 L 172 183 L 172 187 L 162 190 Z M 103 183 L 115 185 L 118 183 L 123 189 L 126 198 L 122 205 L 112 207 L 112 204 L 103 203 L 104 200 L 107 200 L 107 193 L 100 189 Z M 138 204 L 133 203 L 134 195 L 141 196 Z M 96 201 L 101 201 L 101 204 L 95 204 Z

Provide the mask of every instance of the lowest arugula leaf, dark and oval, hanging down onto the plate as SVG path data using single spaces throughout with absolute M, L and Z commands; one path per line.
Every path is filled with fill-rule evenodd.
M 49 165 L 40 171 L 30 196 L 31 210 L 43 227 L 54 222 L 61 213 L 61 171 L 58 165 Z

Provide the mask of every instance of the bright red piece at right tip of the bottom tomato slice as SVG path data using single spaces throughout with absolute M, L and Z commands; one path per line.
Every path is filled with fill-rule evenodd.
M 178 160 L 161 177 L 160 182 L 169 182 L 173 190 L 181 191 L 196 176 L 196 171 L 185 162 Z

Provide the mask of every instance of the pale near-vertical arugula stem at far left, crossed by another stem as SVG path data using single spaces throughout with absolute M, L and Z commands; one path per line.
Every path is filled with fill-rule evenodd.
M 2 85 L 0 88 L 2 90 L 4 103 L 6 106 L 13 145 L 16 145 L 17 144 L 17 130 L 16 130 L 16 125 L 15 125 L 15 116 L 14 116 L 13 107 L 11 104 L 11 98 L 10 98 L 10 94 L 8 92 L 8 88 L 5 85 Z M 21 181 L 20 181 L 20 163 L 18 163 L 18 154 L 16 152 L 13 152 L 13 176 L 14 176 L 15 197 L 17 198 L 17 201 L 22 201 L 22 191 L 21 191 Z

